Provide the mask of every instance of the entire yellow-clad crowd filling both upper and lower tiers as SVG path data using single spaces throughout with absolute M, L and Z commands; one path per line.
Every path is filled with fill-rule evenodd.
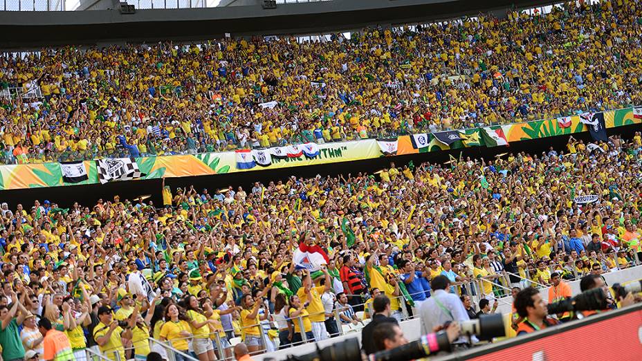
M 641 35 L 642 3 L 616 0 L 320 42 L 13 53 L 0 57 L 1 159 L 264 149 L 632 108 Z M 417 317 L 439 275 L 475 317 L 480 300 L 495 311 L 515 288 L 547 289 L 551 275 L 639 266 L 639 131 L 507 151 L 446 164 L 386 158 L 378 172 L 252 187 L 163 187 L 163 204 L 118 194 L 2 203 L 2 360 L 154 351 L 208 361 L 231 359 L 241 341 L 259 355 L 359 330 L 381 294 L 394 319 Z M 61 342 L 51 328 L 66 335 L 62 353 L 48 351 Z

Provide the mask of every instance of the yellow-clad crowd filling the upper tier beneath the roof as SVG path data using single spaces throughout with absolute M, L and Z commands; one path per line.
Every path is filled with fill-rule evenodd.
M 3 163 L 190 154 L 640 104 L 642 3 L 576 3 L 329 41 L 222 39 L 0 57 Z

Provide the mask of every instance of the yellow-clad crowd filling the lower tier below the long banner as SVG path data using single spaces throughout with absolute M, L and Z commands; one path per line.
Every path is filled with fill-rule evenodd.
M 439 275 L 466 312 L 475 314 L 471 296 L 488 312 L 506 289 L 639 262 L 641 151 L 640 133 L 571 138 L 561 154 L 166 189 L 165 206 L 118 196 L 91 207 L 5 203 L 1 355 L 51 360 L 54 347 L 84 360 L 91 347 L 142 360 L 150 336 L 201 361 L 214 360 L 214 346 L 230 355 L 236 337 L 270 351 L 273 340 L 336 335 L 335 312 L 360 323 L 376 295 L 391 299 L 390 317 L 416 312 Z M 327 266 L 295 267 L 293 252 L 315 246 Z

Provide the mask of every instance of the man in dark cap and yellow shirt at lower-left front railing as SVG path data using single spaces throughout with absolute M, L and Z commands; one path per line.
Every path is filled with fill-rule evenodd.
M 124 330 L 113 320 L 109 306 L 98 308 L 100 322 L 93 329 L 93 338 L 100 347 L 100 352 L 111 361 L 126 360 L 122 338 L 131 340 L 131 330 Z M 132 311 L 133 312 L 133 311 Z M 116 355 L 118 353 L 118 357 Z M 120 359 L 119 359 L 120 358 Z

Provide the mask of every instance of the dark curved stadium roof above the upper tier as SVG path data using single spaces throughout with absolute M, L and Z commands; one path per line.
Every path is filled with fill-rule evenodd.
M 112 0 L 108 0 L 112 1 Z M 113 0 L 117 3 L 118 0 Z M 244 0 L 247 1 L 247 0 Z M 372 25 L 419 23 L 551 0 L 334 0 L 217 8 L 75 12 L 0 12 L 0 48 L 118 41 L 191 41 L 241 35 L 320 34 Z

